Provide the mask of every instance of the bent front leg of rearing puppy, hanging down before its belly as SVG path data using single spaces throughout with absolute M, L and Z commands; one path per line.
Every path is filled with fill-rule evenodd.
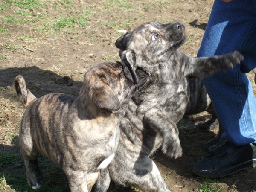
M 143 124 L 160 133 L 163 137 L 163 153 L 176 159 L 182 156 L 182 148 L 177 125 L 169 119 L 163 111 L 152 108 L 145 113 Z

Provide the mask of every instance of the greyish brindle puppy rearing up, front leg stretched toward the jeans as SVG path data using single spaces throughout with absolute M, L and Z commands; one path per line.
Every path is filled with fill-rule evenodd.
M 145 192 L 170 192 L 156 164 L 149 158 L 157 148 L 180 157 L 177 122 L 189 101 L 188 78 L 207 77 L 238 64 L 239 52 L 194 58 L 177 50 L 186 40 L 183 24 L 144 23 L 116 41 L 122 61 L 143 69 L 149 81 L 129 102 L 120 122 L 120 142 L 107 169 L 100 170 L 94 190 L 105 192 L 110 178 L 122 186 Z

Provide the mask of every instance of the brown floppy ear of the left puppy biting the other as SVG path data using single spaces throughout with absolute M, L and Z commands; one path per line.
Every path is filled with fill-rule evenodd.
M 99 77 L 99 79 L 90 83 L 89 96 L 98 108 L 116 111 L 121 107 L 119 99 L 104 78 Z

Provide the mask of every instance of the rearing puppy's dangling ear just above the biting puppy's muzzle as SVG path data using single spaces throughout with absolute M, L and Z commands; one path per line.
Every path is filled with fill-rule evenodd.
M 134 65 L 136 64 L 136 54 L 134 50 L 128 49 L 127 51 L 119 50 L 119 56 L 122 62 L 126 65 L 124 68 L 125 77 L 137 84 L 138 78 L 134 70 Z

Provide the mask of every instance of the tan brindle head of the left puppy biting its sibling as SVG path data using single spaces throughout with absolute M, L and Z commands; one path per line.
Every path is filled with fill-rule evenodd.
M 137 69 L 134 73 L 137 76 L 136 84 L 125 64 L 113 61 L 98 64 L 85 73 L 83 89 L 97 108 L 116 111 L 148 79 L 148 74 L 143 70 Z

